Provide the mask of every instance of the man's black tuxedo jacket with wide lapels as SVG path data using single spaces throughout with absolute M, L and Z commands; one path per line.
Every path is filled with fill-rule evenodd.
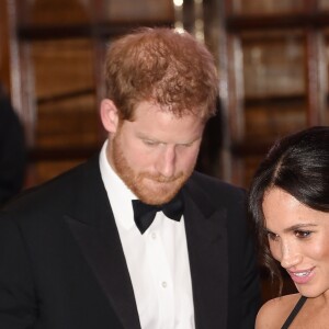
M 193 173 L 183 196 L 196 329 L 253 328 L 243 192 Z M 0 328 L 140 329 L 98 157 L 2 209 Z

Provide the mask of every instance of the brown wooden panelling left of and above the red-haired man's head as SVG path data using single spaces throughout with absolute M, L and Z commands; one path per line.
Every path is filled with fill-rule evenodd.
M 107 44 L 137 26 L 172 25 L 173 3 L 5 0 L 1 5 L 10 55 L 4 76 L 26 131 L 27 188 L 100 149 L 105 134 L 98 107 Z

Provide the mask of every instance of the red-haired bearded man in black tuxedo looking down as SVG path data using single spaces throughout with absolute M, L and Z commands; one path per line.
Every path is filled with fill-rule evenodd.
M 213 56 L 189 33 L 113 42 L 100 155 L 0 215 L 0 327 L 253 328 L 245 193 L 194 171 Z

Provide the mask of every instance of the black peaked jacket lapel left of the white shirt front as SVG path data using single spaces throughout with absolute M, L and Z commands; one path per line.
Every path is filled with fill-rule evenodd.
M 95 162 L 95 161 L 94 161 Z M 77 207 L 67 223 L 126 329 L 140 329 L 134 291 L 98 161 L 88 163 Z

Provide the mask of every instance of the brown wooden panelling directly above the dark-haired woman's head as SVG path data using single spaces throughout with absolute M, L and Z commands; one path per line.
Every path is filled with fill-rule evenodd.
M 280 137 L 329 124 L 328 0 L 226 0 L 230 181 Z

